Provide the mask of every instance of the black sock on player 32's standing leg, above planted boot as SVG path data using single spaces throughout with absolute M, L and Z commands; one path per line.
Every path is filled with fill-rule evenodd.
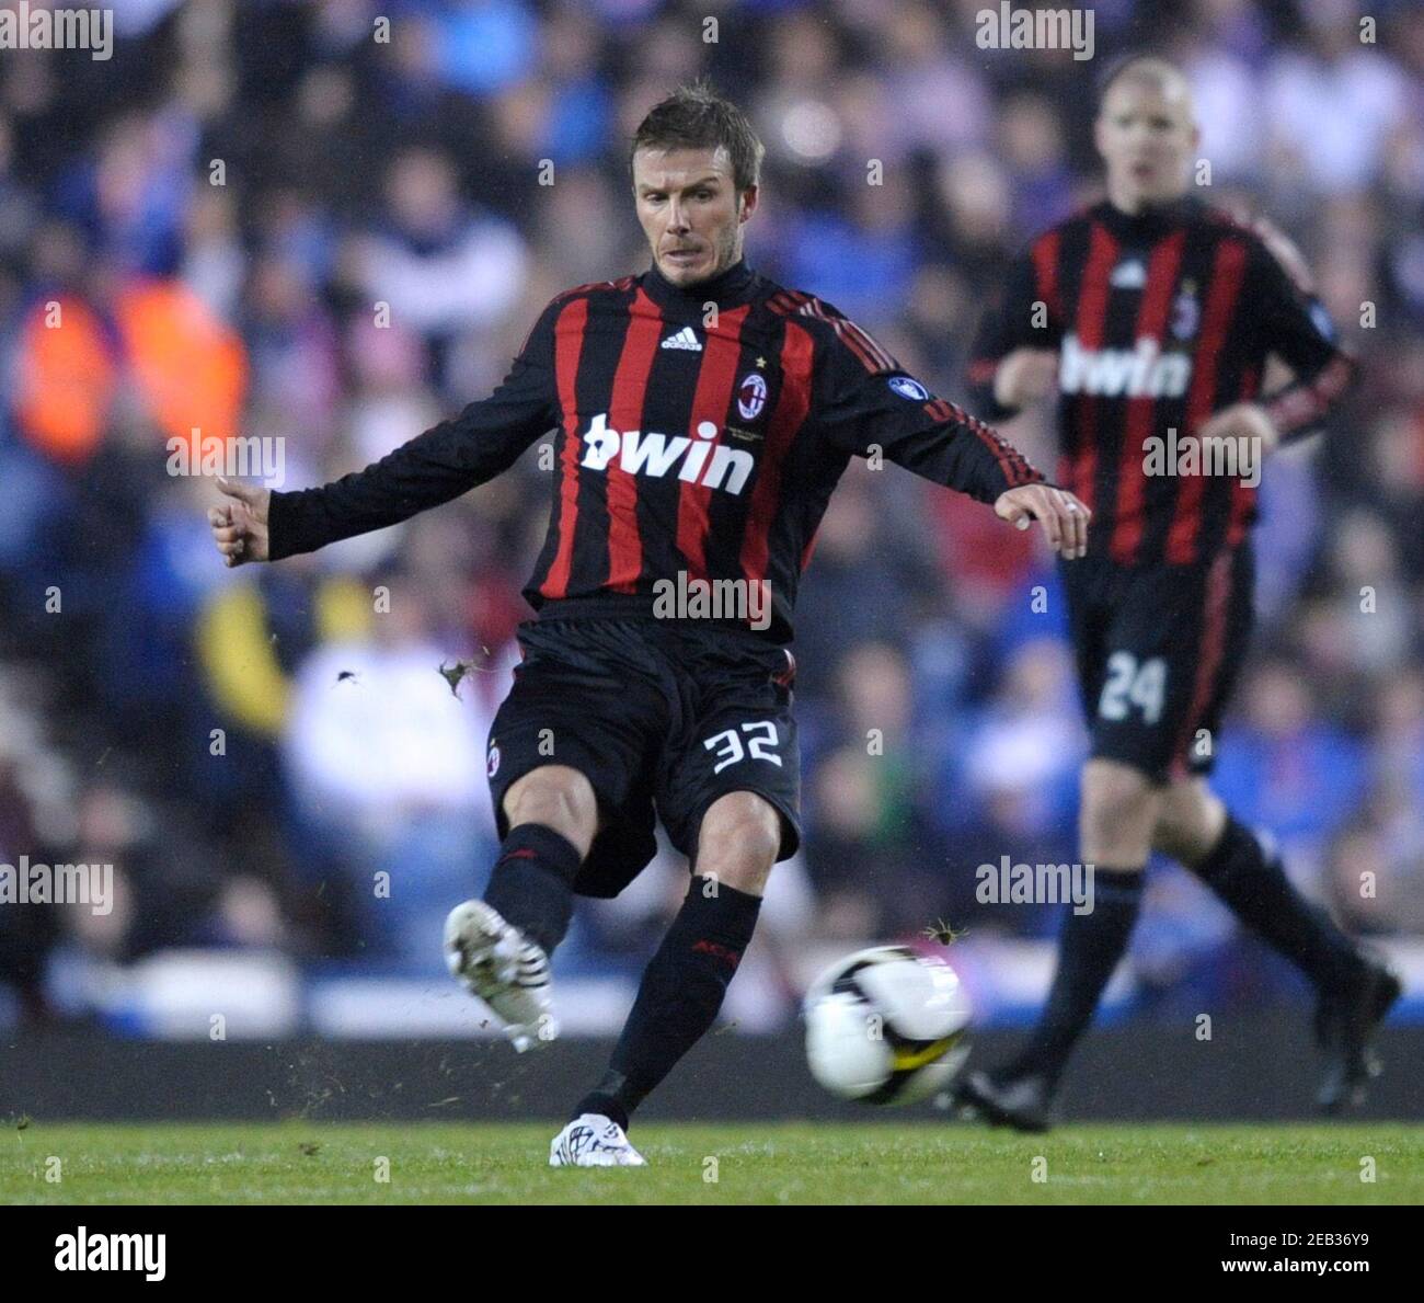
M 760 909 L 760 896 L 713 879 L 692 879 L 678 917 L 642 974 L 609 1072 L 574 1116 L 601 1112 L 627 1126 L 628 1115 L 712 1025 Z

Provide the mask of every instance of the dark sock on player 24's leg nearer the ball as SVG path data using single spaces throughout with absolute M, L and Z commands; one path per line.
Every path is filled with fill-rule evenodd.
M 1102 988 L 1128 948 L 1145 876 L 1142 869 L 1098 866 L 1091 913 L 1077 914 L 1069 909 L 1064 920 L 1058 970 L 1038 1025 L 1024 1051 L 1000 1075 L 1045 1077 L 1049 1091 L 1058 1085 L 1068 1057 L 1092 1024 Z

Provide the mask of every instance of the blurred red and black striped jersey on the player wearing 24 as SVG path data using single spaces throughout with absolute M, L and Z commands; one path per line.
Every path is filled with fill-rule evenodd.
M 971 402 L 990 420 L 1008 414 L 994 375 L 1018 347 L 1059 355 L 1058 483 L 1094 511 L 1089 551 L 1122 565 L 1190 564 L 1245 538 L 1259 476 L 1213 473 L 1240 467 L 1193 446 L 1212 413 L 1260 402 L 1297 437 L 1356 376 L 1262 235 L 1195 197 L 1142 215 L 1098 204 L 1017 259 L 971 353 Z M 1294 380 L 1260 397 L 1270 355 Z

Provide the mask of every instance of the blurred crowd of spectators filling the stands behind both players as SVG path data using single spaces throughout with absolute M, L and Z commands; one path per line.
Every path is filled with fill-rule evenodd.
M 625 142 L 701 74 L 766 142 L 752 265 L 961 396 L 1007 259 L 1098 195 L 1094 78 L 1129 48 L 1188 70 L 1208 198 L 1300 244 L 1366 369 L 1267 470 L 1218 790 L 1349 926 L 1424 933 L 1424 10 L 1371 4 L 1366 40 L 1346 0 L 1108 0 L 1078 63 L 978 48 L 980 7 L 121 0 L 110 61 L 0 54 L 0 862 L 118 876 L 107 916 L 0 909 L 21 1012 L 57 954 L 439 970 L 439 920 L 491 862 L 535 456 L 404 527 L 228 571 L 212 478 L 171 474 L 171 440 L 282 440 L 303 487 L 487 393 L 553 293 L 646 266 Z M 1045 416 L 1010 434 L 1052 467 Z M 802 591 L 807 836 L 772 936 L 1051 936 L 1052 909 L 974 890 L 1005 854 L 1075 859 L 1048 558 L 857 463 Z M 587 911 L 560 963 L 637 966 L 681 872 Z M 1165 866 L 1134 960 L 1149 993 L 1290 981 Z

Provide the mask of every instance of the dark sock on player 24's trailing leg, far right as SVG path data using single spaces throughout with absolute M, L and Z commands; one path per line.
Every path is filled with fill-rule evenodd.
M 1280 856 L 1267 853 L 1230 815 L 1216 849 L 1188 867 L 1321 990 L 1339 988 L 1360 971 L 1350 938 L 1290 884 Z

